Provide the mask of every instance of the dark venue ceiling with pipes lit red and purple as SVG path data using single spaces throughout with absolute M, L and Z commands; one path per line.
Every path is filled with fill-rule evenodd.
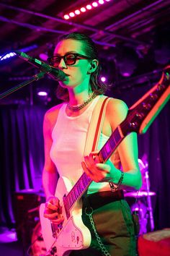
M 142 86 L 146 80 L 157 79 L 170 60 L 170 0 L 110 0 L 70 20 L 63 19 L 63 14 L 91 2 L 1 0 L 0 55 L 22 50 L 43 59 L 53 51 L 59 35 L 77 31 L 88 34 L 98 44 L 103 74 L 113 88 L 126 89 L 137 83 Z M 1 61 L 1 93 L 36 72 L 17 57 Z M 56 84 L 48 77 L 35 83 L 34 89 L 27 85 L 0 100 L 0 104 L 30 103 L 38 87 L 48 83 L 48 88 L 54 90 Z

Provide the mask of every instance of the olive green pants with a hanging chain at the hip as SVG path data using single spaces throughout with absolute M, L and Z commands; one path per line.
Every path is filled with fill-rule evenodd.
M 91 208 L 93 206 L 91 205 Z M 110 202 L 102 207 L 93 210 L 92 217 L 95 223 L 97 234 L 99 234 L 104 248 L 108 254 L 102 251 L 94 229 L 91 227 L 89 216 L 86 213 L 91 212 L 89 205 L 84 203 L 82 219 L 84 224 L 91 231 L 91 244 L 88 249 L 75 250 L 71 252 L 71 256 L 135 256 L 136 241 L 133 218 L 128 202 L 125 200 L 117 200 Z M 86 209 L 86 211 L 85 211 Z M 85 213 L 86 212 L 86 213 Z

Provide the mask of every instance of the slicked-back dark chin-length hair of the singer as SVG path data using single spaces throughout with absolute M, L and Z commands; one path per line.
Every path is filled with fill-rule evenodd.
M 82 46 L 84 47 L 84 52 L 86 56 L 88 56 L 91 60 L 99 59 L 97 47 L 93 42 L 93 40 L 91 40 L 91 38 L 89 38 L 88 35 L 85 35 L 83 33 L 76 33 L 76 32 L 70 33 L 67 35 L 61 35 L 61 37 L 58 38 L 58 42 L 66 39 L 74 39 L 74 40 L 81 41 Z M 94 92 L 97 95 L 104 94 L 107 89 L 107 85 L 105 85 L 104 82 L 102 82 L 100 79 L 101 69 L 102 69 L 101 65 L 99 64 L 97 66 L 97 69 L 93 73 L 91 73 L 91 77 L 89 81 L 92 92 Z M 68 90 L 66 88 L 62 88 L 60 85 L 58 85 L 56 95 L 61 100 L 68 101 Z

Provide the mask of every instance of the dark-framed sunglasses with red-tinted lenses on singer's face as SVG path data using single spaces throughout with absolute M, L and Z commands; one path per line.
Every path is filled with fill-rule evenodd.
M 84 56 L 82 54 L 66 54 L 64 56 L 52 56 L 48 58 L 48 63 L 51 66 L 58 67 L 58 65 L 61 62 L 61 59 L 64 60 L 66 65 L 73 65 L 76 63 L 78 59 L 90 59 L 87 56 Z

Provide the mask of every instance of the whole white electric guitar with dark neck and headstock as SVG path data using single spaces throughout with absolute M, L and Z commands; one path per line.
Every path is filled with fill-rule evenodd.
M 143 134 L 170 98 L 170 66 L 164 69 L 161 80 L 139 101 L 130 107 L 124 121 L 115 129 L 98 155 L 101 163 L 107 161 L 120 142 L 130 132 Z M 40 205 L 40 223 L 47 255 L 67 256 L 74 249 L 86 249 L 91 243 L 91 234 L 81 219 L 81 196 L 92 180 L 85 173 L 71 185 L 60 177 L 56 195 L 63 208 L 63 223 L 56 225 L 44 218 L 45 204 Z

